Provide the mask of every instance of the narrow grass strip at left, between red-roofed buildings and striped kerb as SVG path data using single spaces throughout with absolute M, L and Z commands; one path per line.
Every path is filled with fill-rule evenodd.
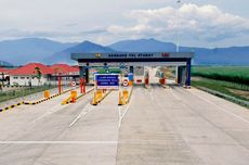
M 55 88 L 55 86 L 40 86 L 40 87 L 32 87 L 31 89 L 26 87 L 26 88 L 19 88 L 16 90 L 0 92 L 0 102 L 4 102 L 11 99 L 22 98 L 25 96 L 41 92 L 41 91 L 52 89 L 52 88 Z

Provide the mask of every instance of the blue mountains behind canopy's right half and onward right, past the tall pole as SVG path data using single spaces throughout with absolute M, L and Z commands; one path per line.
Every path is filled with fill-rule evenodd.
M 175 52 L 175 45 L 155 39 L 123 40 L 110 45 L 117 51 Z M 198 65 L 249 65 L 249 47 L 195 48 L 180 47 L 180 51 L 195 52 L 194 64 Z

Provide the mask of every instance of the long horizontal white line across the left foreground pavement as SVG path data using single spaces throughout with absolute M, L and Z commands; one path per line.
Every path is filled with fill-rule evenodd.
M 0 144 L 117 144 L 118 141 L 0 141 Z

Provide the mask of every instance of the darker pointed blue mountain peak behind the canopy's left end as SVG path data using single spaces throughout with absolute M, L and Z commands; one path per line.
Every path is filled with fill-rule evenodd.
M 45 59 L 45 62 L 49 64 L 52 63 L 76 63 L 76 61 L 70 60 L 70 54 L 71 53 L 81 53 L 81 52 L 87 52 L 87 53 L 92 53 L 92 52 L 115 52 L 115 50 L 108 48 L 108 47 L 103 47 L 101 45 L 96 45 L 90 41 L 83 41 L 75 47 L 68 48 L 66 50 L 63 50 L 61 52 L 54 53 L 50 58 Z

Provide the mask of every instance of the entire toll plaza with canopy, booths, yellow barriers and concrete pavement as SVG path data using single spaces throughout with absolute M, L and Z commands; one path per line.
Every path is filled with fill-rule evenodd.
M 0 109 L 0 165 L 248 165 L 248 109 L 184 88 L 193 58 L 71 54 L 80 79 Z

